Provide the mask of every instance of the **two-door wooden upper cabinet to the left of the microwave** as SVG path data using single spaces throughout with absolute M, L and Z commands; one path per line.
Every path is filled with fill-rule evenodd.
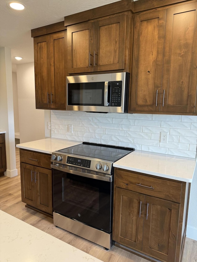
M 34 37 L 38 109 L 66 109 L 65 37 L 65 31 Z

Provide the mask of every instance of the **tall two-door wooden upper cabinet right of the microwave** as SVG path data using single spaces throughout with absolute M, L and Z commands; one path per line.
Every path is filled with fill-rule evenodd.
M 130 112 L 196 114 L 197 3 L 135 16 Z

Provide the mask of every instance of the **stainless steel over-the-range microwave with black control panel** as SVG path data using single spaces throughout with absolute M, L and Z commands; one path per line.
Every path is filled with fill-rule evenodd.
M 128 113 L 129 73 L 67 76 L 66 110 Z

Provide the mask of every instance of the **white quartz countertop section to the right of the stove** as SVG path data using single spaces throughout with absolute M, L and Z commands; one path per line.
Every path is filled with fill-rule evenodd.
M 191 183 L 196 169 L 196 158 L 135 150 L 116 161 L 113 166 Z

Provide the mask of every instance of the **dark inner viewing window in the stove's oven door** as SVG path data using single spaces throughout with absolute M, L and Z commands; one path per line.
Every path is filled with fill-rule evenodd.
M 62 178 L 62 201 L 99 213 L 99 189 Z

